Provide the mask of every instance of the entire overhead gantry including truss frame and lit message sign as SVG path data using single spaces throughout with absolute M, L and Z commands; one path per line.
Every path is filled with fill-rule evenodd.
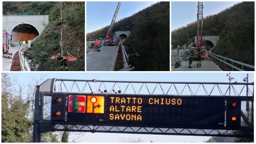
M 253 131 L 250 89 L 253 83 L 48 79 L 36 90 L 34 142 L 47 131 L 239 137 Z

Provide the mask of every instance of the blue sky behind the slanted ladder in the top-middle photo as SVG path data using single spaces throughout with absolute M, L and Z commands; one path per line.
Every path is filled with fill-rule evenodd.
M 129 17 L 132 13 L 141 11 L 156 2 L 135 2 L 122 1 L 116 22 L 124 17 Z M 86 2 L 86 33 L 101 29 L 110 25 L 116 11 L 118 1 L 90 1 Z

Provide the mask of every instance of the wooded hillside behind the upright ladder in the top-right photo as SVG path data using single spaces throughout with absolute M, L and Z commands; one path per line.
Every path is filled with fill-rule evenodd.
M 203 9 L 210 11 L 210 9 Z M 196 12 L 195 12 L 196 14 Z M 203 36 L 220 36 L 214 54 L 254 65 L 254 2 L 242 2 L 203 19 Z M 194 42 L 197 22 L 171 32 L 174 47 Z

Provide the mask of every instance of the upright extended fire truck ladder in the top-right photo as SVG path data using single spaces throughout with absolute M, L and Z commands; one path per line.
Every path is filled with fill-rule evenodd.
M 206 55 L 206 46 L 205 43 L 203 41 L 203 2 L 198 2 L 197 5 L 197 46 L 195 47 L 194 50 L 194 57 L 193 58 L 197 58 L 197 47 L 200 45 L 201 49 L 202 49 L 202 59 L 207 59 L 208 56 Z

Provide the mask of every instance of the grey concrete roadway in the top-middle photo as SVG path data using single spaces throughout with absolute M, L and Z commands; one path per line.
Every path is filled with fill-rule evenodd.
M 117 46 L 102 46 L 101 51 L 86 54 L 86 71 L 113 71 L 115 69 Z

